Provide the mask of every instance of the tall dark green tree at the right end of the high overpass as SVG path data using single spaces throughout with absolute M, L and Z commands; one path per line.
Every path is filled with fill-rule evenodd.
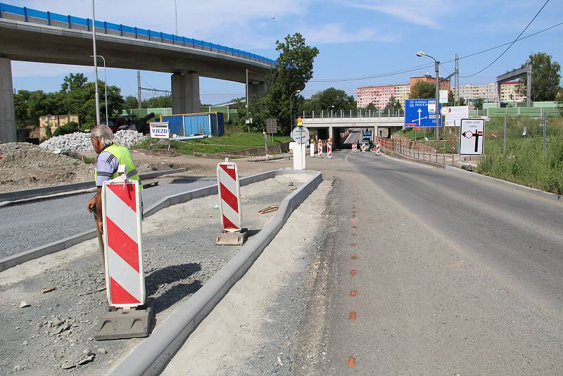
M 305 44 L 305 38 L 299 33 L 287 35 L 284 42 L 276 41 L 276 50 L 279 51 L 279 57 L 267 75 L 267 91 L 259 100 L 251 100 L 251 108 L 246 116 L 253 119 L 255 130 L 265 127 L 262 119 L 277 118 L 281 132 L 288 134 L 293 114 L 303 102 L 302 96 L 295 98 L 291 94 L 303 90 L 305 83 L 312 78 L 313 61 L 319 50 Z M 293 114 L 290 113 L 290 97 L 294 104 Z

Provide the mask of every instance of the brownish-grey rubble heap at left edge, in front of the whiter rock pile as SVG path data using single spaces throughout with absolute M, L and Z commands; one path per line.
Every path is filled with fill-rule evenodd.
M 25 142 L 0 144 L 0 192 L 91 180 L 94 165 Z

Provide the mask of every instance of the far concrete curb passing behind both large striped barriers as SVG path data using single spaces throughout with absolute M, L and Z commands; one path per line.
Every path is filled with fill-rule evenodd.
M 266 173 L 260 173 L 257 175 L 251 175 L 248 177 L 242 177 L 240 180 L 241 186 L 252 184 L 255 182 L 261 182 L 262 180 L 270 179 L 279 175 L 281 170 L 267 171 Z M 290 170 L 285 170 L 289 173 Z M 163 171 L 164 172 L 164 171 Z M 167 196 L 156 202 L 144 212 L 144 217 L 153 215 L 157 211 L 167 208 L 168 206 L 176 205 L 178 203 L 184 203 L 193 199 L 199 199 L 205 196 L 211 196 L 217 194 L 217 184 L 210 185 L 208 187 L 203 187 L 200 189 L 194 189 L 193 191 L 184 192 L 180 194 L 175 194 L 172 196 Z M 29 251 L 24 251 L 16 253 L 13 256 L 8 256 L 6 258 L 0 259 L 0 272 L 6 269 L 13 268 L 15 265 L 20 265 L 27 261 L 34 260 L 35 258 L 50 255 L 51 253 L 56 253 L 58 251 L 63 251 L 64 249 L 75 246 L 76 244 L 85 242 L 89 239 L 94 239 L 96 237 L 96 230 L 89 230 L 86 232 L 81 232 L 80 234 L 68 237 L 65 239 L 58 240 L 43 246 L 38 246 L 37 248 L 30 249 Z

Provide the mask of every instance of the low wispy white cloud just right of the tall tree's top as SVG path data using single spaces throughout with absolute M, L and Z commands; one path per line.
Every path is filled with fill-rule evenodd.
M 374 27 L 364 27 L 360 30 L 348 31 L 339 23 L 322 25 L 321 27 L 307 28 L 303 35 L 308 42 L 349 43 L 349 42 L 397 42 L 398 35 L 382 33 Z

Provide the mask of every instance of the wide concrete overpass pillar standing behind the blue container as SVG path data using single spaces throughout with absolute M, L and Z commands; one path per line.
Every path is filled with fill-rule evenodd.
M 172 113 L 198 113 L 199 75 L 174 73 L 172 75 Z

